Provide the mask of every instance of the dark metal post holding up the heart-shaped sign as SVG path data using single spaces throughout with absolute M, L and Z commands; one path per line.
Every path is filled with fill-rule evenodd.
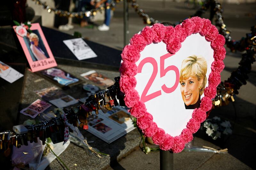
M 160 170 L 173 170 L 173 153 L 160 149 Z

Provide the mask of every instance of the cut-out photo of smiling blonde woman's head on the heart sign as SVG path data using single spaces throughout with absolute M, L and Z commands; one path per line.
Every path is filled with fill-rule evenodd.
M 207 83 L 207 62 L 204 57 L 191 55 L 184 59 L 180 70 L 180 92 L 186 109 L 200 107 L 201 95 Z

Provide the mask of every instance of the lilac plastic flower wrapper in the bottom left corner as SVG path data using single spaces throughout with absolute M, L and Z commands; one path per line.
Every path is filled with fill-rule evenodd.
M 12 151 L 12 164 L 14 170 L 20 169 L 29 164 L 29 167 L 37 169 L 41 162 L 41 157 L 44 151 L 45 145 L 42 145 L 42 141 L 37 139 L 38 142 L 28 143 L 28 146 L 21 145 L 20 148 L 13 146 Z

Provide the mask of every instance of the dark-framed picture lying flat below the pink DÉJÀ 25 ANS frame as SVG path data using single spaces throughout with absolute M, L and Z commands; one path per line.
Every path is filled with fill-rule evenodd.
M 82 82 L 82 80 L 58 67 L 38 71 L 36 73 L 43 78 L 52 81 L 54 84 L 59 85 L 62 89 L 67 89 L 72 85 L 77 85 Z

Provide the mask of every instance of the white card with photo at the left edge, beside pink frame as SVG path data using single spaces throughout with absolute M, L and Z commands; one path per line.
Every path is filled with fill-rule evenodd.
M 23 77 L 23 74 L 0 61 L 0 77 L 8 81 L 9 83 L 13 83 L 14 81 Z

